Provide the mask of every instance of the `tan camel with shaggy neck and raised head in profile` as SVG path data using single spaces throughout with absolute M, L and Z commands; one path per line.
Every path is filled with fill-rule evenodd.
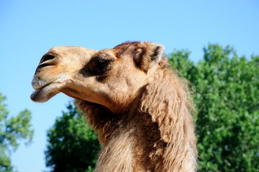
M 46 102 L 59 92 L 75 98 L 103 144 L 94 172 L 195 172 L 188 82 L 163 51 L 139 41 L 100 51 L 51 48 L 36 68 L 30 98 Z

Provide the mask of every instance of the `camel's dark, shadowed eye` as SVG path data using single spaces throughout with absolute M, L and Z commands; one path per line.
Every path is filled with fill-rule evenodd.
M 113 61 L 111 58 L 93 57 L 89 61 L 90 71 L 96 75 L 103 75 L 111 69 Z

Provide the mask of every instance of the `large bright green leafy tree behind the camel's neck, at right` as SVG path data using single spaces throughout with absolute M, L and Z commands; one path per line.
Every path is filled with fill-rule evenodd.
M 196 87 L 201 172 L 259 172 L 259 56 L 209 44 L 204 59 L 174 51 L 172 66 Z

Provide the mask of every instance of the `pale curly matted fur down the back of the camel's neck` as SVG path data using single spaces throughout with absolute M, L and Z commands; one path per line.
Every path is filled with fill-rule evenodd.
M 160 62 L 164 66 L 167 60 Z M 145 87 L 141 111 L 157 122 L 161 139 L 167 143 L 163 154 L 165 172 L 194 172 L 197 149 L 190 110 L 196 113 L 188 91 L 188 82 L 171 68 L 156 70 Z

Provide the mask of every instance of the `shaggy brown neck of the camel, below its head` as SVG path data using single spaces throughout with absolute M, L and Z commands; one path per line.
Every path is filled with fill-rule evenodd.
M 190 113 L 195 109 L 188 82 L 166 66 L 169 63 L 164 58 L 151 71 L 134 108 L 125 114 L 114 115 L 100 105 L 75 100 L 103 143 L 95 172 L 196 171 L 196 138 Z

